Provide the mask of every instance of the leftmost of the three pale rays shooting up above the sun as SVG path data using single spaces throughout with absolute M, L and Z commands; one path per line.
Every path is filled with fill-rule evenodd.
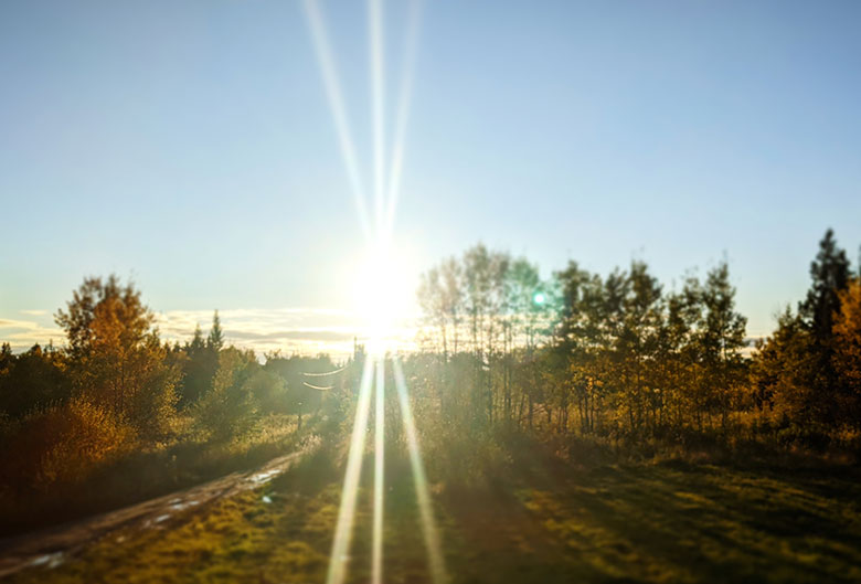
M 359 221 L 362 224 L 362 232 L 365 238 L 371 238 L 371 224 L 368 217 L 368 206 L 365 203 L 364 188 L 362 187 L 362 177 L 359 172 L 359 160 L 355 156 L 355 146 L 352 134 L 350 132 L 350 123 L 347 117 L 347 108 L 343 105 L 343 94 L 341 84 L 338 82 L 338 70 L 334 65 L 334 57 L 331 52 L 331 43 L 326 32 L 326 23 L 322 13 L 318 7 L 318 0 L 305 0 L 305 14 L 311 29 L 313 45 L 317 52 L 317 59 L 320 63 L 320 73 L 322 74 L 326 96 L 329 100 L 329 108 L 334 119 L 336 130 L 338 131 L 338 141 L 341 147 L 341 157 L 347 167 L 347 174 L 350 180 L 350 188 L 353 191 L 355 209 L 359 213 Z

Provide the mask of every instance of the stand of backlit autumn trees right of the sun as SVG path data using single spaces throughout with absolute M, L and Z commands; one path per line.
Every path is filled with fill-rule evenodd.
M 830 230 L 810 278 L 752 346 L 726 261 L 668 289 L 641 261 L 543 279 L 478 244 L 422 275 L 417 379 L 471 428 L 825 446 L 861 433 L 861 283 Z

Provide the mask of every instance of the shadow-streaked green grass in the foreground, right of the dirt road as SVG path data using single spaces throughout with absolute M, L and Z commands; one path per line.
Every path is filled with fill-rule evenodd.
M 481 480 L 433 486 L 455 583 L 861 581 L 854 469 L 577 464 L 528 440 L 504 452 Z M 322 582 L 342 478 L 332 459 L 321 452 L 184 522 L 113 533 L 13 582 Z M 369 580 L 371 467 L 365 460 L 349 582 Z M 401 456 L 387 460 L 386 480 L 384 580 L 427 582 Z

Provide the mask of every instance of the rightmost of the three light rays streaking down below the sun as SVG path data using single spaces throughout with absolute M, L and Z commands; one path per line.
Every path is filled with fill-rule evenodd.
M 422 532 L 427 548 L 427 555 L 431 561 L 431 578 L 434 584 L 444 584 L 447 582 L 445 561 L 443 559 L 442 545 L 439 543 L 439 532 L 434 520 L 434 511 L 431 507 L 431 493 L 427 488 L 427 477 L 422 461 L 422 450 L 418 446 L 418 434 L 413 420 L 413 412 L 410 407 L 410 395 L 406 389 L 406 379 L 404 370 L 397 357 L 393 358 L 393 369 L 395 378 L 395 387 L 397 389 L 397 402 L 401 404 L 401 416 L 404 422 L 406 433 L 406 445 L 410 450 L 410 465 L 413 469 L 413 480 L 415 482 L 415 493 L 418 501 L 418 513 L 422 521 Z

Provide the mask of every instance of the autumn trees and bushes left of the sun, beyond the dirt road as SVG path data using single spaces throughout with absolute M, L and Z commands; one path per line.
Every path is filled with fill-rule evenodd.
M 209 333 L 162 341 L 131 283 L 86 278 L 55 315 L 62 348 L 14 354 L 0 346 L 0 500 L 85 478 L 134 453 L 230 444 L 264 420 L 301 429 L 323 406 L 305 373 L 336 369 L 328 355 L 267 354 Z M 343 391 L 346 376 L 336 378 Z

